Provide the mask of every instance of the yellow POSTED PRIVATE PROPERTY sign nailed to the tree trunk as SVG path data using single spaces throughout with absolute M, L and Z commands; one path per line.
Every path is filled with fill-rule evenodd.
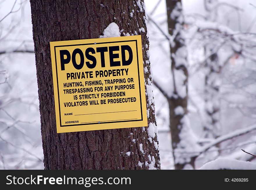
M 147 126 L 140 35 L 50 46 L 57 133 Z

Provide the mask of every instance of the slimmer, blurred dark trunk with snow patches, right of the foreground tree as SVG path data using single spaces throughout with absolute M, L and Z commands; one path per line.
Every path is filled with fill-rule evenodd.
M 168 31 L 173 36 L 173 44 L 170 46 L 173 95 L 168 98 L 170 109 L 170 131 L 172 137 L 173 157 L 175 169 L 184 169 L 186 164 L 194 167 L 195 158 L 185 158 L 182 151 L 186 152 L 186 144 L 182 143 L 181 133 L 187 133 L 186 126 L 187 104 L 188 104 L 188 70 L 187 50 L 182 31 L 184 29 L 184 18 L 181 0 L 166 0 Z M 179 63 L 177 60 L 179 58 Z M 181 61 L 182 60 L 182 61 Z M 177 77 L 182 73 L 182 77 Z M 182 80 L 182 81 L 181 81 Z M 182 108 L 183 113 L 175 112 L 176 108 Z

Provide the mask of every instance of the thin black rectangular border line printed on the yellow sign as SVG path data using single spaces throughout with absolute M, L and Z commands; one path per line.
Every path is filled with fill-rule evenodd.
M 83 126 L 83 125 L 93 125 L 93 124 L 106 124 L 106 123 L 120 123 L 120 122 L 134 122 L 134 121 L 143 121 L 143 113 L 142 113 L 142 102 L 141 102 L 141 82 L 140 82 L 140 71 L 139 71 L 139 59 L 138 59 L 138 43 L 137 40 L 123 40 L 123 41 L 111 41 L 111 42 L 99 42 L 97 44 L 110 44 L 110 43 L 119 43 L 119 42 L 127 42 L 127 41 L 135 41 L 136 42 L 136 53 L 137 53 L 137 66 L 138 66 L 138 81 L 139 81 L 139 91 L 140 91 L 140 104 L 141 104 L 141 119 L 140 120 L 124 120 L 124 121 L 113 121 L 113 122 L 92 122 L 86 124 L 73 124 L 73 125 L 61 125 L 61 106 L 60 106 L 60 97 L 59 97 L 59 84 L 58 84 L 58 69 L 57 69 L 57 58 L 56 58 L 56 48 L 58 47 L 68 47 L 68 46 L 84 46 L 84 45 L 95 45 L 94 43 L 88 44 L 73 44 L 73 45 L 64 45 L 64 46 L 54 46 L 54 55 L 55 55 L 55 67 L 56 67 L 56 78 L 57 78 L 57 90 L 58 90 L 58 104 L 59 104 L 59 116 L 60 116 L 60 127 L 69 127 L 69 126 Z

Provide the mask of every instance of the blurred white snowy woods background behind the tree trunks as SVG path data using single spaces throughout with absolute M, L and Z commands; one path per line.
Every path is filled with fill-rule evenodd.
M 186 36 L 189 41 L 188 111 L 191 135 L 185 138 L 196 138 L 198 141 L 203 133 L 202 123 L 207 119 L 202 113 L 205 106 L 202 98 L 205 71 L 199 67 L 199 63 L 205 58 L 205 43 L 214 44 L 216 39 L 194 35 L 195 26 L 217 28 L 227 34 L 248 33 L 251 35 L 237 37 L 237 40 L 242 41 L 241 44 L 250 42 L 252 47 L 254 44 L 256 46 L 255 0 L 219 0 L 223 4 L 218 7 L 217 19 L 212 22 L 196 17 L 207 14 L 203 1 L 182 1 L 184 16 L 189 23 Z M 170 42 L 164 36 L 168 35 L 166 1 L 145 0 L 145 5 L 149 16 L 147 31 L 153 81 L 161 84 L 166 93 L 171 93 Z M 234 46 L 236 44 L 232 45 Z M 229 47 L 219 50 L 221 60 L 230 56 Z M 35 55 L 31 53 L 33 50 L 29 1 L 0 0 L 0 169 L 43 169 Z M 211 144 L 216 143 L 214 140 L 210 140 L 205 146 L 185 150 L 187 155 L 200 153 L 196 169 L 204 164 L 201 169 L 256 169 L 256 159 L 241 151 L 244 149 L 252 154 L 256 153 L 256 56 L 253 56 L 250 48 L 246 53 L 248 59 L 238 55 L 228 59 L 221 74 L 220 153 L 211 149 Z M 158 88 L 153 86 L 153 90 L 161 169 L 174 169 L 168 103 Z

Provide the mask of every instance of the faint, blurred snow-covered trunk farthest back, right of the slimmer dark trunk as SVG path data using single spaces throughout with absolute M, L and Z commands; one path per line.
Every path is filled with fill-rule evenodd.
M 205 0 L 206 21 L 214 22 L 217 10 L 214 7 L 218 0 Z M 217 138 L 220 134 L 220 97 L 221 65 L 214 41 L 205 45 L 205 55 L 210 55 L 205 64 L 205 122 L 203 126 L 205 138 Z

